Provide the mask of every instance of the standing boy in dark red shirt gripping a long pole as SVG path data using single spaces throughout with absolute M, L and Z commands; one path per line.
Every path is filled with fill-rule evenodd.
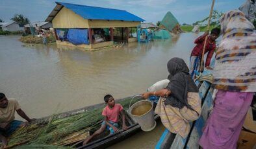
M 194 43 L 196 43 L 196 46 L 194 47 L 193 51 L 191 52 L 190 56 L 190 75 L 194 79 L 195 73 L 194 71 L 199 71 L 200 63 L 201 63 L 201 56 L 203 53 L 203 45 L 205 44 L 205 38 L 208 36 L 206 45 L 205 45 L 205 53 L 208 52 L 206 62 L 205 62 L 205 68 L 211 69 L 209 66 L 211 63 L 212 55 L 214 54 L 214 50 L 216 48 L 215 41 L 220 35 L 220 29 L 212 29 L 211 34 L 209 35 L 209 31 L 207 30 L 202 36 L 199 36 Z

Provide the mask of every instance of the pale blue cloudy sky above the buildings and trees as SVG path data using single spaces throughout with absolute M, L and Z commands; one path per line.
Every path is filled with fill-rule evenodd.
M 216 0 L 214 10 L 237 9 L 245 0 Z M 211 0 L 60 0 L 65 3 L 126 10 L 146 22 L 161 21 L 170 11 L 179 23 L 194 23 L 207 16 Z M 32 21 L 44 21 L 56 6 L 53 0 L 0 0 L 0 19 L 10 21 L 14 14 L 23 14 Z

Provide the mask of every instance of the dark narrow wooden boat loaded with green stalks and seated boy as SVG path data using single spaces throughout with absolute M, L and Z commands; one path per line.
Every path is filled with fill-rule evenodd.
M 123 102 L 125 100 L 131 101 L 131 98 L 133 97 L 127 97 L 127 98 L 122 98 L 119 100 L 116 100 L 116 103 L 120 103 Z M 139 100 L 143 100 L 141 97 L 137 97 L 134 98 L 134 102 L 137 102 Z M 128 102 L 129 103 L 129 102 Z M 131 102 L 130 102 L 131 104 Z M 84 108 L 80 108 L 80 109 L 75 109 L 72 111 L 67 111 L 64 113 L 60 113 L 58 115 L 55 115 L 56 119 L 64 119 L 66 117 L 71 117 L 74 115 L 79 115 L 81 113 L 86 113 L 89 111 L 93 111 L 94 109 L 101 109 L 104 108 L 106 106 L 105 103 L 102 104 L 95 104 L 92 106 L 86 106 Z M 43 117 L 41 119 L 37 119 L 36 121 L 32 122 L 31 124 L 47 124 L 53 116 L 49 116 L 49 117 Z M 155 115 L 155 120 L 159 119 L 158 115 Z M 99 120 L 97 123 L 100 126 L 101 122 L 103 120 Z M 120 120 L 121 122 L 122 120 Z M 120 141 L 122 141 L 123 139 L 126 139 L 127 137 L 130 137 L 131 135 L 133 135 L 136 132 L 139 132 L 140 129 L 140 124 L 138 124 L 137 122 L 135 122 L 131 116 L 129 115 L 129 113 L 127 113 L 127 111 L 125 111 L 125 123 L 128 126 L 128 130 L 121 130 L 118 133 L 115 133 L 113 135 L 109 135 L 109 131 L 106 131 L 106 133 L 103 133 L 102 135 L 99 135 L 97 137 L 95 137 L 94 139 L 92 139 L 92 141 L 90 141 L 90 143 L 86 144 L 83 146 L 83 140 L 82 141 L 77 141 L 75 143 L 72 144 L 68 144 L 68 146 L 73 146 L 75 148 L 106 148 L 108 146 L 111 146 L 112 144 L 118 143 Z M 120 124 L 120 126 L 122 126 L 122 124 Z M 94 131 L 94 130 L 92 130 Z M 91 132 L 90 132 L 91 133 Z M 93 132 L 92 132 L 93 133 Z M 21 144 L 19 144 L 21 145 Z M 12 146 L 9 146 L 12 147 Z

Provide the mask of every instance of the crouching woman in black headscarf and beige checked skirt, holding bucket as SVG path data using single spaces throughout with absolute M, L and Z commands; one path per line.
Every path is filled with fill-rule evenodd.
M 183 59 L 172 58 L 167 63 L 167 69 L 170 73 L 168 86 L 159 91 L 149 91 L 142 96 L 160 96 L 155 113 L 160 116 L 162 124 L 170 132 L 185 138 L 190 131 L 189 122 L 198 119 L 201 113 L 198 88 Z

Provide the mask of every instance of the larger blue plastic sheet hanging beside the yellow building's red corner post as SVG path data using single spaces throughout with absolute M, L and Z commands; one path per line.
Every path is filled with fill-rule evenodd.
M 89 44 L 87 29 L 69 29 L 67 38 L 74 45 Z

